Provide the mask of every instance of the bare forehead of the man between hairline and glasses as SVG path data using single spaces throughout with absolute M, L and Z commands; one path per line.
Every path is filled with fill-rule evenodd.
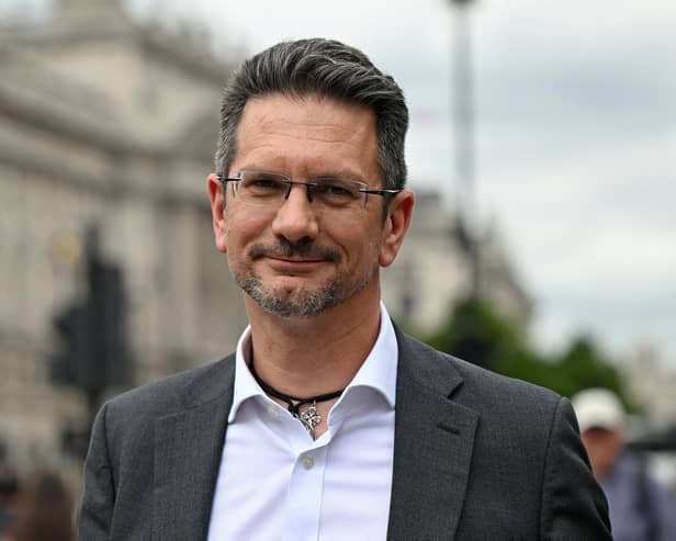
M 282 168 L 291 174 L 317 168 L 378 172 L 374 112 L 334 98 L 273 93 L 249 99 L 236 147 L 234 168 Z

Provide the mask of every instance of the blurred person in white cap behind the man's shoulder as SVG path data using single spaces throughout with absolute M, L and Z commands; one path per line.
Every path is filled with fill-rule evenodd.
M 676 540 L 676 504 L 647 474 L 645 461 L 624 449 L 627 414 L 618 396 L 587 388 L 572 402 L 592 470 L 608 498 L 615 540 Z

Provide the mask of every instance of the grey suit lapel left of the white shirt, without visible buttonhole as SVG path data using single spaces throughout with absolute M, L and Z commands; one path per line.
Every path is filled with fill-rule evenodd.
M 187 408 L 155 421 L 153 539 L 206 539 L 233 404 L 234 358 L 195 379 Z

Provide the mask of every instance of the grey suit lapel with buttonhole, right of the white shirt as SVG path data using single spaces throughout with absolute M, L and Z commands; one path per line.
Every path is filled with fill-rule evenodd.
M 399 363 L 387 539 L 452 539 L 478 415 L 449 399 L 462 379 L 447 358 L 397 331 Z

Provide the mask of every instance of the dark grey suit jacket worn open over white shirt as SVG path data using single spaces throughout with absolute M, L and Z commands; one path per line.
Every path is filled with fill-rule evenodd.
M 606 499 L 565 398 L 398 331 L 397 340 L 387 539 L 611 539 Z M 229 356 L 101 408 L 80 539 L 206 538 L 234 377 Z

